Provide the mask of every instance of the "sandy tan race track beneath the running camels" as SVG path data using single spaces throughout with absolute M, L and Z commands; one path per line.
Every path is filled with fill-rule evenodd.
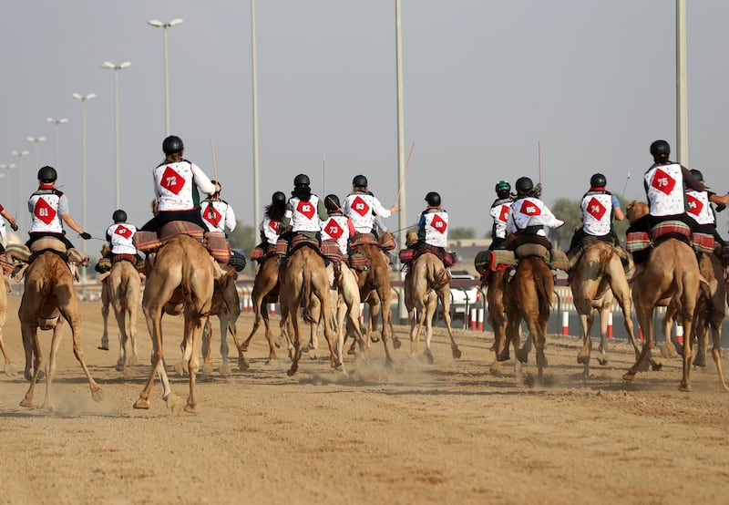
M 18 297 L 10 297 L 5 344 L 22 372 Z M 125 378 L 97 349 L 99 304 L 83 304 L 82 341 L 105 398 L 92 400 L 70 335 L 61 344 L 53 412 L 19 407 L 22 373 L 0 376 L 2 503 L 726 503 L 729 394 L 714 363 L 678 391 L 681 363 L 663 360 L 629 384 L 627 345 L 583 378 L 576 338 L 550 336 L 547 386 L 519 388 L 512 363 L 492 375 L 491 334 L 461 331 L 461 360 L 436 330 L 436 362 L 408 357 L 392 369 L 381 344 L 373 360 L 334 373 L 325 355 L 268 365 L 262 333 L 235 365 L 200 377 L 200 413 L 173 413 L 159 381 L 149 410 L 132 404 L 149 371 L 149 334 L 139 314 L 140 361 Z M 110 325 L 113 316 L 110 317 Z M 217 326 L 217 322 L 215 322 Z M 241 314 L 247 335 L 251 314 Z M 180 319 L 166 319 L 168 366 L 179 359 Z M 42 332 L 44 348 L 49 332 Z M 46 350 L 47 353 L 47 350 Z M 47 354 L 46 354 L 47 356 Z M 724 363 L 724 366 L 726 364 Z M 534 355 L 527 369 L 536 373 Z M 187 397 L 187 377 L 170 371 Z M 43 401 L 45 386 L 36 392 Z

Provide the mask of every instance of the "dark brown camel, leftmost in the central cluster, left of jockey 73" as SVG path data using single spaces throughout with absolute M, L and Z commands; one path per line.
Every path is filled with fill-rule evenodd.
M 251 294 L 253 304 L 253 314 L 255 319 L 253 320 L 253 328 L 251 335 L 248 335 L 242 344 L 241 350 L 243 352 L 248 351 L 248 345 L 251 343 L 253 335 L 256 334 L 258 328 L 261 326 L 261 321 L 266 328 L 266 340 L 268 340 L 268 358 L 269 361 L 278 359 L 276 356 L 275 347 L 281 346 L 281 341 L 285 337 L 286 341 L 289 341 L 289 335 L 286 332 L 286 322 L 281 320 L 281 335 L 278 340 L 273 340 L 273 334 L 271 331 L 271 325 L 269 323 L 268 311 L 266 310 L 267 304 L 275 304 L 279 299 L 279 267 L 276 264 L 278 256 L 270 255 L 267 256 L 256 273 L 255 280 L 253 281 L 253 291 Z

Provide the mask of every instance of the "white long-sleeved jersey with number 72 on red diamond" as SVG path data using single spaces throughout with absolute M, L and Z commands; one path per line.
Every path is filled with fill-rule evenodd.
M 200 209 L 200 192 L 215 192 L 208 176 L 188 160 L 162 163 L 152 171 L 152 177 L 159 211 Z

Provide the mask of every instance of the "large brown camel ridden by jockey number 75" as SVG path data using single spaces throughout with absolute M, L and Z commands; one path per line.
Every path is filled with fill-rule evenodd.
M 640 205 L 642 203 L 642 205 Z M 628 219 L 633 222 L 647 211 L 644 202 L 631 202 Z M 683 376 L 679 389 L 691 391 L 691 338 L 693 314 L 700 292 L 701 273 L 693 248 L 680 240 L 669 238 L 653 246 L 641 273 L 633 277 L 632 301 L 638 324 L 643 333 L 640 356 L 631 369 L 622 376 L 632 381 L 642 366 L 643 359 L 650 356 L 653 348 L 653 309 L 656 306 L 674 304 L 676 313 L 683 320 L 683 331 L 687 338 L 683 345 Z M 670 339 L 666 335 L 666 341 Z

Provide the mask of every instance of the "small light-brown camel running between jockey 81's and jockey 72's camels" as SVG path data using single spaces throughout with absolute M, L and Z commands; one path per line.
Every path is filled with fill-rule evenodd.
M 139 362 L 137 355 L 137 307 L 142 280 L 134 264 L 128 261 L 114 263 L 103 283 L 108 303 L 114 310 L 119 328 L 119 357 L 117 369 L 128 374 L 128 366 Z

